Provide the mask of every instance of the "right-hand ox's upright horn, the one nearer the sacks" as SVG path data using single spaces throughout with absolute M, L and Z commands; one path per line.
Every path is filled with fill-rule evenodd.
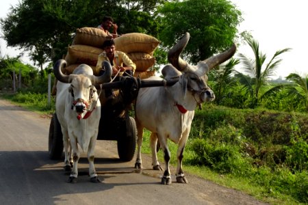
M 168 52 L 168 60 L 170 64 L 175 66 L 179 71 L 186 70 L 188 66 L 188 63 L 179 57 L 188 44 L 188 40 L 190 40 L 190 33 L 186 32 L 181 40 L 179 40 L 179 42 L 177 42 L 177 44 L 175 44 L 175 46 L 173 46 Z

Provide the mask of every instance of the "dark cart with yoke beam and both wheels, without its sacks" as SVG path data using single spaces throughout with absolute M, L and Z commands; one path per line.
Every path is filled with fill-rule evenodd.
M 98 140 L 117 141 L 118 156 L 121 161 L 131 161 L 136 150 L 137 128 L 131 115 L 131 105 L 141 87 L 170 86 L 179 79 L 168 81 L 141 80 L 139 77 L 122 77 L 120 81 L 97 85 L 100 92 L 104 89 L 118 89 L 119 94 L 113 102 L 101 105 L 101 120 L 99 122 Z M 103 99 L 100 98 L 101 101 Z M 150 108 L 149 108 L 150 109 Z M 63 156 L 62 131 L 57 114 L 54 113 L 49 126 L 49 158 L 61 159 Z

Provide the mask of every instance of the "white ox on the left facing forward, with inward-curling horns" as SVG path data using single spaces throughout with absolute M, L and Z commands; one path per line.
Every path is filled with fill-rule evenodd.
M 55 111 L 60 122 L 66 171 L 70 172 L 68 182 L 77 182 L 78 161 L 81 149 L 88 151 L 89 175 L 92 182 L 100 182 L 94 167 L 94 146 L 99 133 L 99 120 L 101 118 L 101 102 L 94 85 L 110 81 L 112 68 L 107 61 L 104 63 L 105 72 L 100 77 L 93 75 L 92 68 L 81 64 L 73 71 L 73 74 L 62 73 L 66 61 L 58 60 L 53 67 L 57 78 L 57 95 Z

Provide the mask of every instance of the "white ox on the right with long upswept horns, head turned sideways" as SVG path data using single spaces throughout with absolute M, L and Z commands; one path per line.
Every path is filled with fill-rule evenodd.
M 179 183 L 187 183 L 183 170 L 182 159 L 190 126 L 194 118 L 194 109 L 202 102 L 214 100 L 212 90 L 207 86 L 207 72 L 215 66 L 231 58 L 236 51 L 233 44 L 231 49 L 198 62 L 196 66 L 186 63 L 179 55 L 185 49 L 190 38 L 185 33 L 183 38 L 170 49 L 168 59 L 171 65 L 163 68 L 165 79 L 179 78 L 179 81 L 170 87 L 141 88 L 136 99 L 136 123 L 138 128 L 138 153 L 135 168 L 142 169 L 141 146 L 143 128 L 151 131 L 151 150 L 153 169 L 162 170 L 157 161 L 157 139 L 164 152 L 165 171 L 162 184 L 171 184 L 169 161 L 170 151 L 167 139 L 179 144 L 177 150 L 177 173 Z M 159 80 L 151 77 L 149 80 Z

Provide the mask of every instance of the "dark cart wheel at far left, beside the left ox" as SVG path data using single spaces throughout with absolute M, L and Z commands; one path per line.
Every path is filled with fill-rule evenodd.
M 63 154 L 63 138 L 60 122 L 54 113 L 49 126 L 48 153 L 50 159 L 61 159 Z

